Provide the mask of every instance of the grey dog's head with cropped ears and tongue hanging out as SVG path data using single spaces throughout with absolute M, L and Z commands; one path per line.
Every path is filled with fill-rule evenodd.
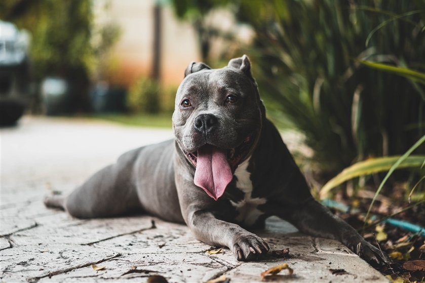
M 217 199 L 258 142 L 264 106 L 247 56 L 221 69 L 192 62 L 177 90 L 173 128 L 195 184 Z

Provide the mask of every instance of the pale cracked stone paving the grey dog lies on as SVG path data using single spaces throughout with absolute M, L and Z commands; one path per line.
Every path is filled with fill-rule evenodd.
M 294 273 L 283 270 L 273 281 L 388 281 L 339 242 L 303 235 L 278 218 L 254 232 L 271 250 L 289 248 L 290 258 L 269 252 L 238 262 L 228 249 L 206 253 L 210 247 L 185 225 L 147 215 L 81 220 L 44 207 L 45 194 L 67 193 L 121 153 L 171 137 L 171 130 L 29 116 L 2 129 L 0 281 L 145 282 L 159 274 L 169 282 L 206 282 L 225 274 L 230 282 L 259 282 L 262 271 L 285 262 Z

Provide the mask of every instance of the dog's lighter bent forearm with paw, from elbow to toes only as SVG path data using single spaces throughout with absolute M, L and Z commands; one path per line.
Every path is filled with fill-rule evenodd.
M 239 261 L 255 260 L 269 250 L 262 238 L 237 224 L 219 220 L 208 211 L 189 213 L 187 224 L 199 240 L 216 247 L 228 247 Z

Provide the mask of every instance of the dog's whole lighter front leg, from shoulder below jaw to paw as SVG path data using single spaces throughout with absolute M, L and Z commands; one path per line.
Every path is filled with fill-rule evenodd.
M 254 260 L 269 250 L 266 242 L 226 219 L 222 200 L 214 200 L 194 184 L 195 169 L 175 158 L 175 180 L 181 215 L 196 238 L 215 247 L 228 247 L 239 261 Z

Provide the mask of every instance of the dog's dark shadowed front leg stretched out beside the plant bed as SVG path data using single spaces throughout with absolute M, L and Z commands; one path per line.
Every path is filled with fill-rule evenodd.
M 387 254 L 370 245 L 353 227 L 310 198 L 297 207 L 287 207 L 279 215 L 301 232 L 336 239 L 372 265 L 391 263 Z

